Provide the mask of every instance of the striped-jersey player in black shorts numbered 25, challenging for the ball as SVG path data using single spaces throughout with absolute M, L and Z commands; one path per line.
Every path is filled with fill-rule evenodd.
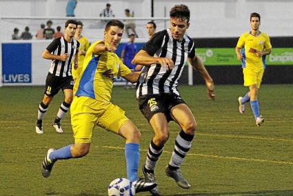
M 133 63 L 143 65 L 137 86 L 137 98 L 141 112 L 154 130 L 143 165 L 145 180 L 156 181 L 154 167 L 169 137 L 168 122 L 175 121 L 181 126 L 181 131 L 176 137 L 174 151 L 165 173 L 181 188 L 190 188 L 180 166 L 191 148 L 196 129 L 194 115 L 177 90 L 187 61 L 201 73 L 208 87 L 208 96 L 214 99 L 214 82 L 202 61 L 195 55 L 194 41 L 185 34 L 190 25 L 189 20 L 188 6 L 174 6 L 170 11 L 170 29 L 156 32 L 133 60 Z M 159 195 L 159 190 L 154 188 L 151 193 Z

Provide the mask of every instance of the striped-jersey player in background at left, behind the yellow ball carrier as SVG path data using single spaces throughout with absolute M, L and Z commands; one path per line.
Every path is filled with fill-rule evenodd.
M 78 66 L 79 41 L 74 39 L 77 30 L 77 21 L 68 20 L 65 22 L 65 35 L 54 39 L 43 52 L 44 59 L 51 59 L 52 63 L 46 78 L 46 89 L 43 101 L 39 104 L 38 118 L 36 124 L 36 132 L 43 133 L 42 121 L 46 115 L 48 106 L 54 95 L 57 95 L 60 89 L 63 90 L 64 101 L 61 104 L 57 117 L 52 126 L 58 133 L 63 133 L 60 120 L 64 117 L 70 108 L 73 98 L 72 79 L 72 61 L 74 61 L 74 69 Z

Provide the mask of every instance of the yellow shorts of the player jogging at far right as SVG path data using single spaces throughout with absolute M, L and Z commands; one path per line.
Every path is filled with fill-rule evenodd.
M 263 69 L 252 70 L 243 68 L 244 86 L 251 86 L 256 84 L 257 88 L 261 86 L 261 79 L 263 78 Z

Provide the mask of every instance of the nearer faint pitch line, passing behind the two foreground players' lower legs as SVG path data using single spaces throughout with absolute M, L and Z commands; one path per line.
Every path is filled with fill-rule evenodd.
M 119 150 L 124 150 L 125 148 L 122 147 L 117 147 L 117 146 L 103 146 L 103 148 L 108 148 L 108 149 L 119 149 Z M 141 150 L 144 152 L 148 152 L 148 150 Z M 169 151 L 163 151 L 163 153 L 168 153 L 172 154 L 172 152 Z M 293 165 L 293 162 L 289 161 L 272 161 L 272 160 L 265 160 L 265 159 L 247 159 L 247 158 L 241 158 L 241 157 L 224 157 L 224 156 L 219 156 L 219 155 L 204 155 L 204 154 L 196 154 L 196 153 L 191 153 L 188 154 L 188 156 L 198 156 L 198 157 L 210 157 L 210 158 L 218 158 L 218 159 L 232 159 L 232 160 L 241 160 L 241 161 L 257 161 L 257 162 L 267 162 L 267 163 L 273 163 L 273 164 L 287 164 L 287 165 Z

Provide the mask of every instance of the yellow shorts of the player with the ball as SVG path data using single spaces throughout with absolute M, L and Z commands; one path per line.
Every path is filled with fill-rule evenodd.
M 124 113 L 110 102 L 97 101 L 90 97 L 74 97 L 70 114 L 75 142 L 90 143 L 92 130 L 96 125 L 118 133 L 125 121 L 130 120 Z

